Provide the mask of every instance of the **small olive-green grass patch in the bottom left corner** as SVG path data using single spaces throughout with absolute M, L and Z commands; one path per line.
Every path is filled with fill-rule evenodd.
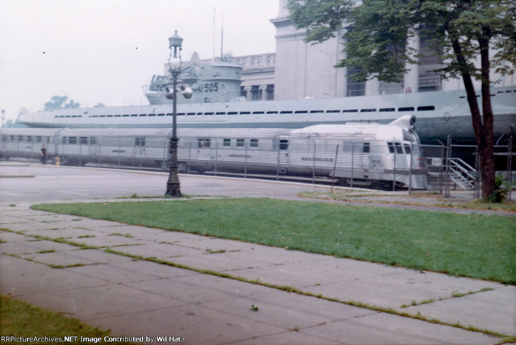
M 105 336 L 112 337 L 108 330 L 92 327 L 74 318 L 69 318 L 50 310 L 44 310 L 22 300 L 0 295 L 0 301 L 0 335 L 2 336 L 22 338 L 49 337 L 61 338 L 62 340 L 65 339 L 64 337 L 77 336 L 77 341 L 67 343 L 84 343 L 79 341 L 80 337 L 101 337 L 102 340 L 104 340 Z M 13 341 L 12 343 L 33 344 L 51 342 Z M 110 343 L 120 344 L 121 342 Z

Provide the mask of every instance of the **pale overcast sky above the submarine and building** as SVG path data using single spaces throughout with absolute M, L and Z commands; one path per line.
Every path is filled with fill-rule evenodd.
M 142 85 L 164 73 L 174 30 L 183 61 L 220 55 L 222 15 L 224 53 L 273 53 L 278 11 L 278 0 L 0 0 L 0 109 L 14 120 L 55 95 L 146 104 Z

